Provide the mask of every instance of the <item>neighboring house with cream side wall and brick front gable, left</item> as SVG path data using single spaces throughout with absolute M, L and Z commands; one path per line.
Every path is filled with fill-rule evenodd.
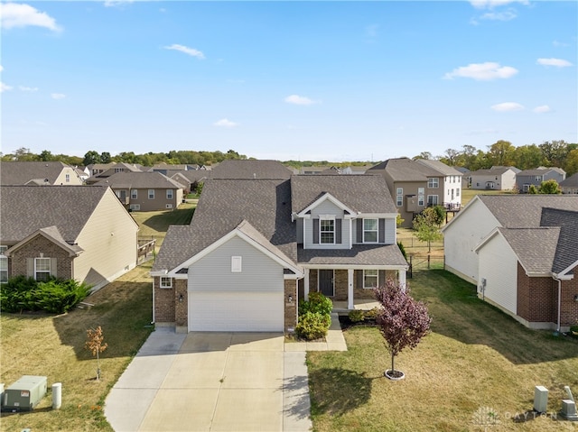
M 0 276 L 99 289 L 133 269 L 138 225 L 110 188 L 2 186 Z

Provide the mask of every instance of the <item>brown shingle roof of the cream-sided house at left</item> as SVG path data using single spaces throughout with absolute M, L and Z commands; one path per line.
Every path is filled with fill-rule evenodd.
M 15 244 L 51 226 L 65 242 L 75 243 L 106 192 L 95 186 L 2 186 L 0 243 Z

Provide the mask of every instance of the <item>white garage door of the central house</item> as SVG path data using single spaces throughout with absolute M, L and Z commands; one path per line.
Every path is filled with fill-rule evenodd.
M 283 291 L 189 291 L 189 331 L 282 332 Z

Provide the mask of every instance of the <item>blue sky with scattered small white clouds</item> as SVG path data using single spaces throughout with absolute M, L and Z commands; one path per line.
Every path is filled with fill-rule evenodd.
M 1 152 L 383 161 L 578 142 L 575 1 L 0 4 Z

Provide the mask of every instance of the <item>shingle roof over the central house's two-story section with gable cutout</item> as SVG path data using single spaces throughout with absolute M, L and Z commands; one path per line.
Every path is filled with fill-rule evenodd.
M 324 193 L 360 213 L 396 213 L 396 205 L 382 176 L 298 175 L 291 178 L 291 207 L 301 212 Z

